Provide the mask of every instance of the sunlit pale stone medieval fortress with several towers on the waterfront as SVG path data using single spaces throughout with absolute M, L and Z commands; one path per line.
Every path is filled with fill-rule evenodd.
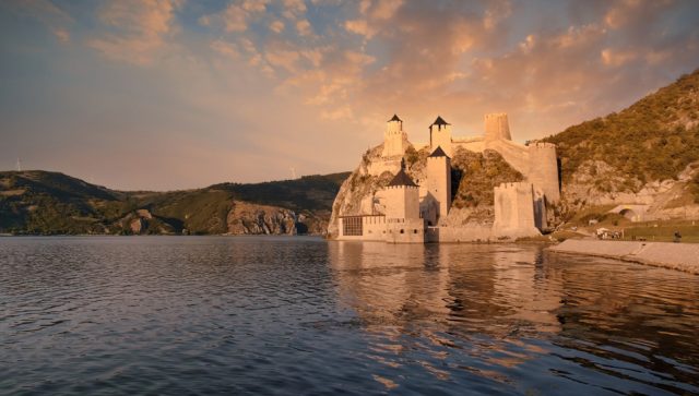
M 413 180 L 405 169 L 408 147 L 428 149 L 424 177 Z M 495 220 L 491 225 L 449 221 L 452 211 L 451 158 L 459 149 L 483 153 L 493 149 L 524 181 L 495 188 Z M 393 243 L 497 241 L 541 235 L 546 228 L 547 205 L 560 199 L 556 146 L 549 143 L 522 145 L 512 142 L 507 115 L 485 116 L 485 133 L 476 137 L 455 137 L 452 125 L 437 117 L 429 125 L 429 143 L 412 144 L 403 121 L 393 116 L 387 123 L 380 156 L 358 171 L 364 177 L 392 175 L 383 189 L 362 196 L 362 205 L 343 213 L 341 200 L 353 193 L 350 180 L 343 184 L 333 205 L 329 233 L 339 240 L 386 241 Z M 464 176 L 467 177 L 467 176 Z M 337 212 L 337 213 L 336 213 Z

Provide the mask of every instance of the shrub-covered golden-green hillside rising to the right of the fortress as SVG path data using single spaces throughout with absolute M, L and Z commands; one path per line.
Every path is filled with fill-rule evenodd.
M 649 181 L 676 178 L 699 160 L 699 70 L 627 109 L 544 141 L 558 146 L 564 185 L 585 161 L 606 163 L 626 178 L 629 191 Z

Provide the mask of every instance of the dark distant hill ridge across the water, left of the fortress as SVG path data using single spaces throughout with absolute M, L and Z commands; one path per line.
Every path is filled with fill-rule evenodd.
M 0 233 L 321 233 L 348 173 L 125 192 L 42 170 L 0 172 Z

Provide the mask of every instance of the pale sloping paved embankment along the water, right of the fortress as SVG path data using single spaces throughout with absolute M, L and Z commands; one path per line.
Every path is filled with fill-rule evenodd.
M 699 243 L 568 239 L 547 251 L 617 259 L 699 275 Z

